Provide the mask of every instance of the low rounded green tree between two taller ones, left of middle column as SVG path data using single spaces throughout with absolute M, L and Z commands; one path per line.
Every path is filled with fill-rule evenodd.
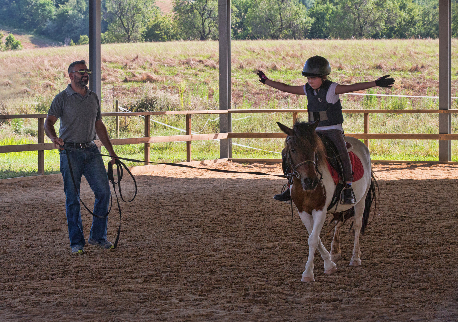
M 166 42 L 179 39 L 172 16 L 161 14 L 154 16 L 148 21 L 143 39 L 147 42 Z

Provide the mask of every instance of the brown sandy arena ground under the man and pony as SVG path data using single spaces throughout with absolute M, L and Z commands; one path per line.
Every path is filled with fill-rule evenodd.
M 278 174 L 278 164 L 213 168 Z M 71 254 L 61 178 L 0 187 L 1 321 L 457 321 L 458 166 L 374 164 L 381 200 L 342 260 L 301 283 L 308 234 L 274 201 L 285 179 L 173 169 L 136 175 L 118 249 Z M 125 177 L 123 192 L 131 193 Z M 82 199 L 93 203 L 83 180 Z M 115 207 L 115 205 L 114 205 Z M 109 240 L 117 232 L 109 217 Z M 330 216 L 330 215 L 329 215 Z M 92 218 L 82 210 L 86 238 Z M 329 250 L 332 236 L 321 234 Z

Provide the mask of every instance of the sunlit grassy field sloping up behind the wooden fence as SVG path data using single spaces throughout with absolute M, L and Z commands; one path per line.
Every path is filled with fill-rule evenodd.
M 453 95 L 457 86 L 457 41 L 452 41 Z M 288 84 L 304 84 L 300 71 L 305 60 L 322 55 L 331 62 L 331 77 L 341 84 L 374 80 L 391 74 L 396 83 L 393 89 L 376 88 L 371 93 L 403 95 L 437 95 L 438 41 L 437 40 L 304 40 L 304 41 L 237 41 L 232 42 L 232 93 L 236 108 L 303 108 L 303 95 L 289 95 L 258 82 L 256 69 L 262 69 L 269 78 Z M 0 53 L 0 112 L 46 112 L 53 97 L 68 83 L 66 69 L 74 60 L 87 59 L 87 46 L 39 48 Z M 113 111 L 114 100 L 120 106 L 150 110 L 159 109 L 218 109 L 218 42 L 161 42 L 102 45 L 102 107 Z M 341 96 L 346 109 L 362 108 L 421 108 L 436 109 L 434 99 L 403 99 Z M 453 101 L 453 108 L 456 101 Z M 244 118 L 245 116 L 250 116 Z M 259 116 L 259 117 L 258 117 Z M 196 116 L 193 130 L 201 133 L 218 132 L 214 116 Z M 158 116 L 154 119 L 184 128 L 182 116 Z M 236 119 L 236 120 L 235 120 Z M 437 133 L 437 115 L 371 115 L 369 132 Z M 114 120 L 106 118 L 110 135 Z M 208 122 L 207 122 L 208 121 Z M 237 115 L 234 132 L 278 132 L 275 121 L 291 124 L 289 115 Z M 0 127 L 0 144 L 18 140 L 36 142 L 36 120 L 7 122 Z M 138 117 L 121 118 L 120 137 L 142 136 L 142 120 Z M 204 124 L 207 125 L 204 127 Z M 151 135 L 176 135 L 178 131 L 153 123 Z M 453 132 L 456 122 L 453 120 Z M 346 114 L 346 132 L 363 132 L 363 116 Z M 35 130 L 36 131 L 36 130 Z M 8 143 L 7 143 L 8 142 Z M 282 140 L 234 140 L 270 151 L 280 151 Z M 193 143 L 194 158 L 215 158 L 218 143 Z M 374 140 L 370 142 L 374 159 L 435 160 L 438 158 L 436 141 Z M 142 146 L 117 147 L 117 151 L 141 157 Z M 168 143 L 153 145 L 152 155 L 157 160 L 183 160 L 185 145 Z M 54 152 L 46 157 L 48 171 L 57 171 Z M 456 144 L 453 144 L 457 159 Z M 25 165 L 36 169 L 36 153 L 0 155 L 0 169 L 12 174 L 33 173 Z M 247 148 L 235 148 L 234 157 L 277 157 L 274 153 Z M 23 159 L 23 161 L 21 161 Z M 29 160 L 30 161 L 27 161 Z M 2 161 L 3 160 L 3 161 Z M 53 165 L 54 164 L 54 165 Z M 11 175 L 12 175 L 11 174 Z M 8 174 L 9 175 L 9 174 Z

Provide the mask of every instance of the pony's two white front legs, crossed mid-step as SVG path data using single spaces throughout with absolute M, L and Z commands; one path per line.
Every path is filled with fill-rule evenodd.
M 302 273 L 301 281 L 314 282 L 313 259 L 316 248 L 318 248 L 321 257 L 324 260 L 324 272 L 326 274 L 332 274 L 337 271 L 336 264 L 331 260 L 331 256 L 320 239 L 320 232 L 326 219 L 326 211 L 314 210 L 312 211 L 312 215 L 303 211 L 299 213 L 299 216 L 309 232 L 309 257 L 307 259 L 307 263 L 305 264 L 305 271 Z

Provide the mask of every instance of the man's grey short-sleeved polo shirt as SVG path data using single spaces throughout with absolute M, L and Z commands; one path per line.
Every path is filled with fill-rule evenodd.
M 48 115 L 60 118 L 59 137 L 64 142 L 85 143 L 95 139 L 95 121 L 102 119 L 97 94 L 86 86 L 82 96 L 68 84 L 51 103 Z

